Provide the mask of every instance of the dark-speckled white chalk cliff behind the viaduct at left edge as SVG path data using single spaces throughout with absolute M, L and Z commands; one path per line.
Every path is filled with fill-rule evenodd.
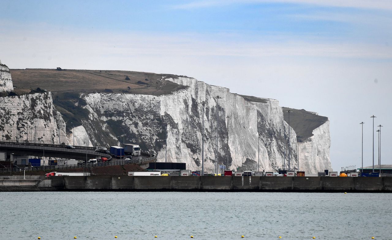
M 1 141 L 58 144 L 60 127 L 60 141 L 68 144 L 57 114 L 50 92 L 0 97 Z

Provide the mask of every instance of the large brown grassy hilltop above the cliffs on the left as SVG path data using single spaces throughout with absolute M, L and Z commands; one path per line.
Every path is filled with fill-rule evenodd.
M 162 78 L 172 74 L 119 70 L 10 69 L 15 90 L 42 88 L 51 92 L 114 92 L 162 95 L 185 86 Z

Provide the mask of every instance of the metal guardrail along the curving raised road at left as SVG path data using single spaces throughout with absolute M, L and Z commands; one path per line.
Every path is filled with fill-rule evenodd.
M 98 153 L 95 151 L 88 151 L 88 150 L 95 150 L 93 147 L 82 147 L 82 146 L 75 146 L 76 149 L 67 149 L 65 145 L 58 145 L 58 144 L 37 144 L 37 143 L 10 143 L 10 142 L 1 142 L 0 147 L 15 147 L 18 146 L 19 148 L 29 148 L 29 149 L 42 149 L 42 150 L 52 150 L 52 151 L 59 151 L 59 152 L 69 152 L 69 153 L 87 153 L 90 155 L 96 155 L 101 157 L 106 157 L 109 161 L 106 162 L 97 162 L 96 164 L 87 163 L 87 167 L 101 167 L 101 166 L 112 166 L 112 165 L 123 165 L 123 164 L 142 164 L 143 162 L 149 162 L 155 159 L 155 155 L 142 152 L 143 156 L 149 156 L 147 158 L 134 158 L 130 160 L 114 160 L 111 161 L 112 156 L 105 154 L 105 153 Z M 85 150 L 78 150 L 77 148 L 84 148 Z M 84 168 L 86 167 L 86 163 L 83 164 L 70 164 L 70 165 L 53 165 L 53 166 L 38 166 L 38 167 L 28 167 L 27 171 L 46 171 L 46 170 L 64 170 L 64 169 L 73 169 L 73 168 Z M 10 168 L 0 168 L 0 172 L 10 172 Z M 14 167 L 12 168 L 13 172 L 23 171 L 24 168 Z

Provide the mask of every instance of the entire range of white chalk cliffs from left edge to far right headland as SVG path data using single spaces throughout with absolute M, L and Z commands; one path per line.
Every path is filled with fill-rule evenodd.
M 12 90 L 8 67 L 1 67 L 2 89 Z M 156 154 L 159 162 L 186 162 L 189 170 L 201 170 L 204 161 L 206 172 L 214 172 L 216 163 L 238 171 L 287 169 L 290 143 L 292 169 L 297 169 L 299 158 L 302 171 L 332 170 L 326 117 L 315 120 L 313 113 L 303 110 L 310 114 L 307 126 L 301 126 L 304 114 L 300 112 L 297 118 L 293 113 L 292 119 L 297 120 L 290 119 L 294 122 L 289 128 L 285 111 L 275 99 L 233 94 L 227 88 L 194 78 L 163 77 L 156 81 L 186 87 L 159 96 L 75 94 L 79 100 L 67 102 L 66 106 L 78 112 L 56 105 L 73 123 L 65 123 L 58 116 L 50 92 L 0 97 L 1 140 L 79 146 L 138 143 L 143 151 Z

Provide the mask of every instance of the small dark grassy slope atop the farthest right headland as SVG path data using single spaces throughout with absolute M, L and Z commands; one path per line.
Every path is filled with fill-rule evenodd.
M 290 127 L 294 129 L 297 134 L 298 141 L 305 141 L 307 138 L 312 137 L 313 130 L 323 125 L 328 121 L 328 117 L 317 115 L 314 112 L 308 112 L 304 109 L 294 109 L 282 107 L 283 116 L 285 121 L 289 123 L 290 112 Z

